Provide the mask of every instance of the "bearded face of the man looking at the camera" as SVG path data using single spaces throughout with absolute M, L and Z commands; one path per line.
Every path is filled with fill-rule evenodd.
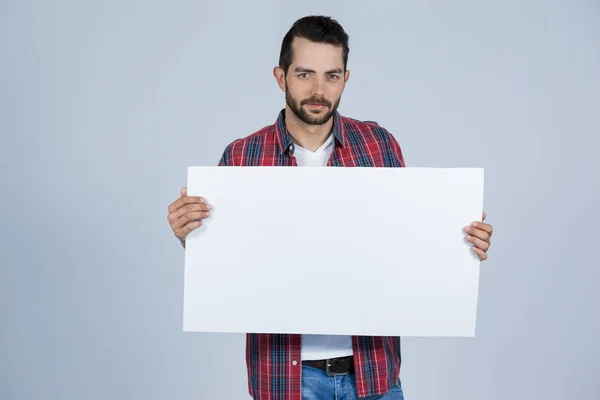
M 293 61 L 285 76 L 285 99 L 306 124 L 322 125 L 337 110 L 349 77 L 342 48 L 295 38 Z

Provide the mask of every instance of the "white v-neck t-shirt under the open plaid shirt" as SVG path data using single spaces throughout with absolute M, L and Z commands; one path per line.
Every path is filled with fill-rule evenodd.
M 300 167 L 324 167 L 333 151 L 333 135 L 314 153 L 295 145 L 294 157 Z M 302 359 L 323 360 L 345 357 L 353 354 L 352 336 L 344 335 L 302 335 Z

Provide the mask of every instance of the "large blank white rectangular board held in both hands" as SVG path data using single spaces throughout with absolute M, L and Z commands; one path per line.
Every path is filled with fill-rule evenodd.
M 474 336 L 481 168 L 190 167 L 183 330 Z

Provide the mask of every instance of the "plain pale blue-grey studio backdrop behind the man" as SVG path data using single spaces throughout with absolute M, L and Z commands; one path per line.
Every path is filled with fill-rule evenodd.
M 350 34 L 343 114 L 485 168 L 476 337 L 404 338 L 407 400 L 600 398 L 592 0 L 2 1 L 0 398 L 249 398 L 244 335 L 182 332 L 167 206 L 274 122 L 307 14 Z

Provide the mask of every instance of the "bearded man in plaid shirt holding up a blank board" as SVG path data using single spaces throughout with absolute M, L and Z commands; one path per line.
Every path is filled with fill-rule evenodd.
M 335 20 L 296 21 L 273 70 L 285 109 L 273 125 L 229 144 L 219 165 L 404 167 L 387 130 L 337 111 L 350 76 L 348 53 L 348 35 Z M 185 188 L 169 205 L 168 220 L 184 247 L 210 209 Z M 492 227 L 475 222 L 465 232 L 485 260 Z M 248 389 L 257 400 L 403 399 L 400 361 L 398 337 L 247 334 Z

